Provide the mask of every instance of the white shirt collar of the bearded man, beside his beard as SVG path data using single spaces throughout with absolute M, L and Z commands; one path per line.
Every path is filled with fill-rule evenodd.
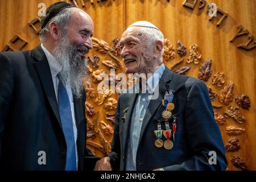
M 57 74 L 61 71 L 62 66 L 60 65 L 60 63 L 55 59 L 55 57 L 47 50 L 47 48 L 45 48 L 43 46 L 43 44 L 40 45 L 44 51 L 44 53 L 46 54 L 48 63 L 49 63 L 49 67 L 51 69 L 51 73 L 53 76 L 57 76 Z

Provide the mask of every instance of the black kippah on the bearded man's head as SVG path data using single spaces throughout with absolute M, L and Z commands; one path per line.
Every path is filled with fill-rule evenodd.
M 49 21 L 54 17 L 56 16 L 58 13 L 60 13 L 61 10 L 64 10 L 68 7 L 76 7 L 74 5 L 71 5 L 69 3 L 66 3 L 66 2 L 56 2 L 56 3 L 53 3 L 51 6 L 49 6 L 47 9 L 46 9 L 46 16 L 43 16 L 42 17 L 42 20 L 41 20 L 41 29 L 43 29 L 47 23 L 49 23 Z

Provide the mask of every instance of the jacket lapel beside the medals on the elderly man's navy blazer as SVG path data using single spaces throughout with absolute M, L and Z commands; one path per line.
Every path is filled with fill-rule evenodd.
M 167 67 L 164 69 L 164 73 L 162 77 L 159 80 L 159 84 L 156 89 L 159 89 L 159 96 L 156 100 L 151 100 L 148 104 L 142 127 L 141 127 L 141 134 L 139 135 L 139 143 L 141 142 L 141 139 L 143 137 L 143 134 L 146 130 L 146 127 L 148 123 L 151 121 L 152 116 L 155 114 L 156 110 L 158 110 L 158 107 L 162 104 L 162 100 L 164 98 L 164 93 L 169 89 L 169 82 L 172 78 L 172 72 Z M 139 146 L 138 143 L 138 146 Z

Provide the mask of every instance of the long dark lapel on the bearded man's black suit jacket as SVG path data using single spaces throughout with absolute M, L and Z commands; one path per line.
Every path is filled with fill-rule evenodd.
M 47 100 L 49 101 L 49 104 L 51 105 L 53 113 L 55 114 L 55 117 L 61 126 L 59 107 L 57 105 L 54 86 L 52 83 L 51 70 L 49 68 L 46 55 L 44 54 L 41 46 L 38 46 L 32 50 L 32 56 L 37 60 L 34 63 L 36 71 L 38 72 L 38 75 L 42 82 L 44 92 L 46 92 Z

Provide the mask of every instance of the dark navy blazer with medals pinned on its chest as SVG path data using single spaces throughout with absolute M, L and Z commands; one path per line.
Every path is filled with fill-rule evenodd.
M 175 109 L 172 113 L 177 114 L 177 130 L 174 147 L 166 150 L 164 147 L 155 147 L 154 130 L 157 130 L 158 120 L 164 121 L 161 115 L 165 109 L 162 100 L 164 93 L 170 90 L 175 91 Z M 127 137 L 137 96 L 136 93 L 122 93 L 118 99 L 112 152 L 109 154 L 114 169 L 125 169 Z M 126 119 L 123 119 L 127 107 Z M 172 122 L 173 118 L 169 120 L 171 129 Z M 165 129 L 164 122 L 162 129 Z M 173 141 L 172 138 L 171 140 Z M 216 164 L 209 164 L 212 156 L 209 155 L 210 151 L 216 152 Z M 213 162 L 211 159 L 210 161 Z M 166 67 L 159 80 L 159 97 L 150 101 L 143 119 L 136 158 L 137 170 L 224 170 L 226 165 L 224 143 L 214 120 L 212 104 L 204 82 L 177 75 Z

